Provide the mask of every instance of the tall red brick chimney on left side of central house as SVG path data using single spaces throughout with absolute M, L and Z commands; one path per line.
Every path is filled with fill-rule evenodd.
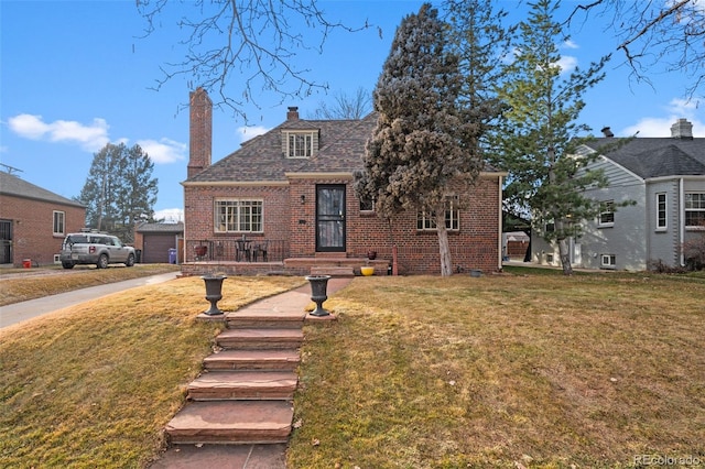
M 202 87 L 188 95 L 188 167 L 186 175 L 193 177 L 210 166 L 213 148 L 213 101 Z

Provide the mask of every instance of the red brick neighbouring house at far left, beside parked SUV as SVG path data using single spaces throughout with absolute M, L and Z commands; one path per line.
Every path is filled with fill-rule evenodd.
M 82 204 L 0 171 L 0 264 L 52 264 L 64 236 L 85 222 Z

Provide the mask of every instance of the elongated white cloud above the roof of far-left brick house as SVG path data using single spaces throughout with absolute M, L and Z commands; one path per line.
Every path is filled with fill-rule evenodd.
M 8 124 L 12 132 L 25 139 L 77 143 L 89 152 L 99 151 L 110 141 L 109 126 L 105 119 L 100 118 L 94 119 L 86 126 L 68 120 L 44 122 L 42 116 L 18 114 L 8 119 Z

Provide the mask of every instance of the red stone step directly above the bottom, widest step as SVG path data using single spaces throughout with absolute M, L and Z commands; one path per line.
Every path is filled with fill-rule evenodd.
M 293 371 L 210 371 L 188 384 L 188 397 L 194 401 L 291 401 L 297 382 Z

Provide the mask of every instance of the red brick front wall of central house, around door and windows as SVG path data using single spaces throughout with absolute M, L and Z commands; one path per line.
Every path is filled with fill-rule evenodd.
M 185 239 L 217 240 L 214 232 L 214 199 L 216 197 L 262 198 L 264 200 L 264 233 L 270 240 L 289 239 L 292 258 L 315 255 L 316 184 L 346 184 L 347 252 L 350 258 L 364 258 L 370 250 L 378 259 L 392 260 L 392 246 L 398 246 L 398 265 L 402 274 L 441 272 L 438 239 L 435 232 L 416 231 L 416 214 L 395 218 L 393 227 L 373 212 L 361 212 L 351 177 L 292 178 L 289 186 L 279 187 L 185 187 Z M 305 197 L 302 204 L 301 196 Z M 499 269 L 499 178 L 482 177 L 469 193 L 460 195 L 460 229 L 448 232 L 454 271 Z M 227 237 L 232 237 L 228 234 Z M 257 234 L 248 233 L 257 239 Z M 193 259 L 193 247 L 185 247 L 186 260 Z

